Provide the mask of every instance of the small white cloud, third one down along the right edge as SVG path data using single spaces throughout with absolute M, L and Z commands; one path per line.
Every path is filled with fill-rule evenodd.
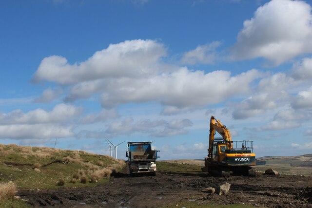
M 293 109 L 312 110 L 312 86 L 307 91 L 300 91 L 292 102 Z

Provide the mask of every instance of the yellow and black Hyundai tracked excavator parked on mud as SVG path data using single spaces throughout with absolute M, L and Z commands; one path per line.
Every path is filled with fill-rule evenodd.
M 215 137 L 218 132 L 222 137 Z M 203 171 L 215 176 L 254 176 L 255 154 L 253 141 L 232 141 L 231 132 L 215 116 L 210 118 L 208 157 Z

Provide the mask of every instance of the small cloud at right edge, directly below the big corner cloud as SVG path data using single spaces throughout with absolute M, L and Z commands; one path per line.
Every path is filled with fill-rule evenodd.
M 312 79 L 312 58 L 303 58 L 301 62 L 296 63 L 292 67 L 292 77 L 301 80 Z

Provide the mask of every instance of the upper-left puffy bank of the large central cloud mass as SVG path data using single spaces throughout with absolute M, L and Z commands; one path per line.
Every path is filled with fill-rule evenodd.
M 158 61 L 165 56 L 163 45 L 154 40 L 127 40 L 111 44 L 88 60 L 70 64 L 65 57 L 45 57 L 33 82 L 50 81 L 74 84 L 107 77 L 136 77 L 155 73 Z

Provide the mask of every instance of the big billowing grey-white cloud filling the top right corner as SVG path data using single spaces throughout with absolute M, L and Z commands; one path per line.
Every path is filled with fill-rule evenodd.
M 298 0 L 272 0 L 244 21 L 234 59 L 264 57 L 275 65 L 312 53 L 311 6 Z

